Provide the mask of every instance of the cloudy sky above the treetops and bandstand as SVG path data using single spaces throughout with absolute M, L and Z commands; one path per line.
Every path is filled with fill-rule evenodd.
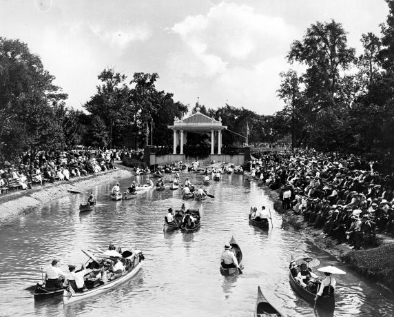
M 360 54 L 387 14 L 384 0 L 0 0 L 0 37 L 27 43 L 74 109 L 114 68 L 129 80 L 157 72 L 156 88 L 191 107 L 199 97 L 273 114 L 279 73 L 302 70 L 287 52 L 311 23 L 342 23 Z

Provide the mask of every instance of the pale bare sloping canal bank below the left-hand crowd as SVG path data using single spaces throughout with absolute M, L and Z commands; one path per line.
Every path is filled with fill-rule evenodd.
M 34 212 L 37 208 L 71 192 L 87 194 L 94 185 L 109 181 L 114 177 L 127 177 L 130 169 L 116 165 L 116 170 L 70 178 L 70 181 L 56 181 L 45 185 L 35 185 L 29 190 L 8 192 L 0 196 L 0 226 L 23 214 Z M 120 168 L 119 168 L 120 167 Z

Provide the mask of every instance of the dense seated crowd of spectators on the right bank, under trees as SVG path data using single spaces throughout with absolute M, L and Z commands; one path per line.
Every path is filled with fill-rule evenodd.
M 263 154 L 249 162 L 252 175 L 281 188 L 284 209 L 302 215 L 324 238 L 360 249 L 375 234 L 394 235 L 394 174 L 357 156 L 315 151 Z

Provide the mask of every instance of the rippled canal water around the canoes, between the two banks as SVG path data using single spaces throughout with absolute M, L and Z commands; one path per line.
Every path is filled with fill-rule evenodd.
M 194 184 L 199 174 L 181 174 Z M 166 176 L 169 178 L 169 176 Z M 88 188 L 85 194 L 68 194 L 1 227 L 0 289 L 1 316 L 253 316 L 257 287 L 288 316 L 315 316 L 313 307 L 295 296 L 289 285 L 291 254 L 306 254 L 322 265 L 338 265 L 335 259 L 308 243 L 291 229 L 269 232 L 251 227 L 251 206 L 270 206 L 273 225 L 281 216 L 256 183 L 242 175 L 225 175 L 207 187 L 215 199 L 183 201 L 180 191 L 138 193 L 128 201 L 107 196 L 116 181 L 127 187 L 143 176 L 112 180 Z M 79 214 L 79 203 L 93 190 L 98 202 L 92 212 Z M 200 208 L 198 232 L 163 233 L 169 207 Z M 243 253 L 243 275 L 220 275 L 220 254 L 234 235 Z M 25 290 L 41 280 L 40 267 L 59 258 L 81 265 L 87 258 L 81 249 L 107 249 L 113 243 L 137 247 L 145 254 L 143 268 L 127 283 L 98 297 L 63 305 L 61 298 L 34 302 Z M 350 269 L 336 276 L 335 316 L 393 316 L 394 296 Z

